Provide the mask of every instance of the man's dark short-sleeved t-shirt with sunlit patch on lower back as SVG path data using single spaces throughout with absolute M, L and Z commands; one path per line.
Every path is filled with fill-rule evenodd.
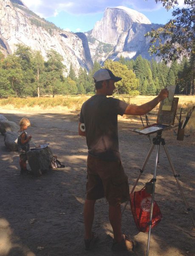
M 83 103 L 79 121 L 85 124 L 88 154 L 105 161 L 120 160 L 117 116 L 127 103 L 94 95 Z

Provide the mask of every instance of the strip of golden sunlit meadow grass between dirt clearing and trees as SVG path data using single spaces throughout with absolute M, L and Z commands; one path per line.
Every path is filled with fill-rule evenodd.
M 55 96 L 54 98 L 48 97 L 40 97 L 40 98 L 7 98 L 0 99 L 0 107 L 12 107 L 16 109 L 22 108 L 36 108 L 37 106 L 42 109 L 55 109 L 57 107 L 66 107 L 70 110 L 79 111 L 83 102 L 89 99 L 89 95 L 70 95 L 70 96 Z M 129 96 L 127 94 L 124 95 L 114 95 L 114 98 L 121 99 L 128 104 L 141 105 L 150 100 L 152 100 L 155 96 Z M 179 97 L 178 102 L 178 110 L 177 114 L 179 116 L 180 109 L 183 108 L 182 118 L 184 118 L 187 114 L 187 111 L 195 105 L 195 96 L 182 96 L 178 95 L 175 97 Z M 157 115 L 158 106 L 150 112 L 152 115 Z M 128 118 L 128 116 L 127 116 Z M 189 132 L 195 132 L 195 111 L 192 113 L 191 118 L 186 126 L 186 130 Z

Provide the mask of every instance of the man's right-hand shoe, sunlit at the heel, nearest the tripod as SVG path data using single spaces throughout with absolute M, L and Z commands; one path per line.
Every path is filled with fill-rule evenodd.
M 123 250 L 133 251 L 134 250 L 134 242 L 130 240 L 128 236 L 122 235 L 122 241 L 117 242 L 113 240 L 112 250 L 119 252 Z

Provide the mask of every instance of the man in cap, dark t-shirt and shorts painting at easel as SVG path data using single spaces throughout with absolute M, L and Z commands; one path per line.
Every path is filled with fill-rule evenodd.
M 94 205 L 97 199 L 106 197 L 109 204 L 109 220 L 113 228 L 112 250 L 133 250 L 133 241 L 122 234 L 120 205 L 129 200 L 128 178 L 124 172 L 118 141 L 118 115 L 143 115 L 151 111 L 168 96 L 161 90 L 155 99 L 143 105 L 129 105 L 111 96 L 115 82 L 122 78 L 108 69 L 98 70 L 93 79 L 96 94 L 83 103 L 79 119 L 79 135 L 86 137 L 88 145 L 88 182 L 84 207 L 85 249 L 96 241 L 92 232 Z

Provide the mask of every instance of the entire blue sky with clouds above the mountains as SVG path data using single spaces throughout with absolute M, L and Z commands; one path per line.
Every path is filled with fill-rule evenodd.
M 183 0 L 179 0 L 182 6 Z M 167 12 L 155 0 L 23 0 L 40 17 L 72 32 L 87 32 L 103 17 L 105 8 L 125 6 L 143 13 L 152 23 L 167 23 L 172 10 Z

